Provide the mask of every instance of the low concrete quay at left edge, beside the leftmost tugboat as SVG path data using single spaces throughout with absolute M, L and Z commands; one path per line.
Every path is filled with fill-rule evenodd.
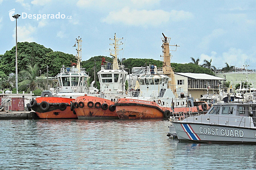
M 14 119 L 39 119 L 37 114 L 32 111 L 1 111 L 0 120 Z

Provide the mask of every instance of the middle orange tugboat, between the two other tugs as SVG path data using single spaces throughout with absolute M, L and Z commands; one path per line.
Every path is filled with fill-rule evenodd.
M 114 35 L 113 43 L 115 54 L 113 57 L 113 65 L 108 62 L 103 65 L 105 59 L 102 58 L 101 71 L 98 72 L 100 82 L 99 94 L 87 94 L 86 96 L 77 97 L 74 103 L 71 103 L 71 110 L 75 110 L 78 119 L 119 119 L 116 114 L 116 106 L 114 103 L 118 98 L 126 97 L 125 80 L 127 72 L 123 65 L 118 65 L 117 54 L 119 40 Z

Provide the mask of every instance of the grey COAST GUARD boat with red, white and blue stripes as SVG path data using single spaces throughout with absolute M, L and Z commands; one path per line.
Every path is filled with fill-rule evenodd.
M 205 115 L 172 123 L 179 140 L 256 144 L 255 102 L 215 104 Z

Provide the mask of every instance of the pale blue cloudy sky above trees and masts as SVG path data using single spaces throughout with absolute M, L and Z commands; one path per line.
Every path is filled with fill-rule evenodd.
M 110 57 L 115 33 L 123 37 L 120 59 L 160 60 L 164 33 L 180 45 L 170 47 L 171 62 L 256 69 L 255 0 L 0 0 L 0 54 L 15 46 L 14 14 L 18 42 L 75 55 L 80 36 L 82 60 Z

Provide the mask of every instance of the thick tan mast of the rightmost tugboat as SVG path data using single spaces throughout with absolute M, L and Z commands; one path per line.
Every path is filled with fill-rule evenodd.
M 163 38 L 161 39 L 163 42 L 163 45 L 162 45 L 163 56 L 160 56 L 160 57 L 163 57 L 163 74 L 166 74 L 166 76 L 170 77 L 168 82 L 168 88 L 171 88 L 173 94 L 177 97 L 175 76 L 174 76 L 174 71 L 172 70 L 172 67 L 171 67 L 171 53 L 170 53 L 169 46 L 176 46 L 176 50 L 177 50 L 177 47 L 179 47 L 179 45 L 177 44 L 169 45 L 171 38 L 166 37 L 164 34 L 163 34 Z

